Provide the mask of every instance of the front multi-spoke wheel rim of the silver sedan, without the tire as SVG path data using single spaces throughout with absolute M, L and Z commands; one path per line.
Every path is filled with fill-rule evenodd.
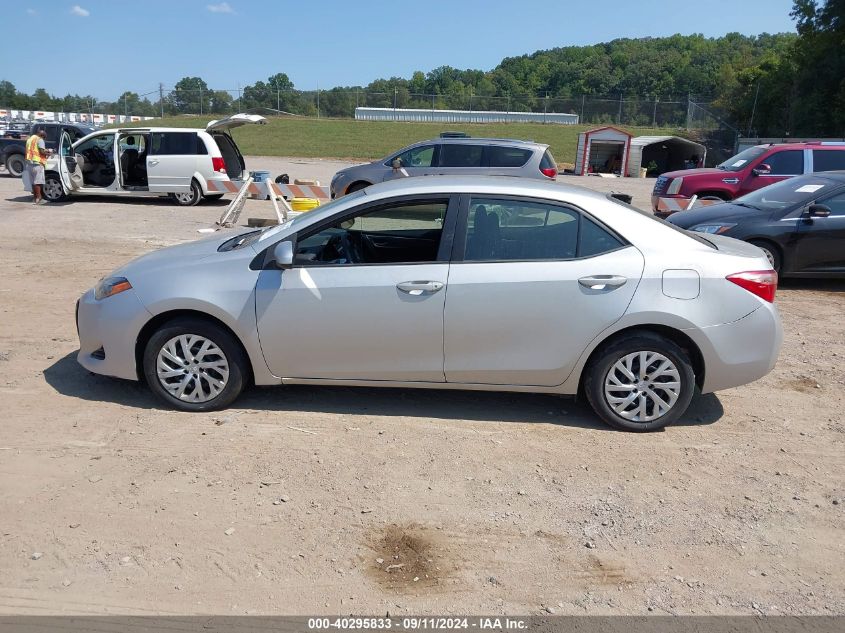
M 208 402 L 226 387 L 229 361 L 213 341 L 198 334 L 181 334 L 159 350 L 156 375 L 177 400 Z

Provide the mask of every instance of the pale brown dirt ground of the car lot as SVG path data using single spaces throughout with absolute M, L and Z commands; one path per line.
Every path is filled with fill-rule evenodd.
M 225 203 L 25 200 L 0 177 L 0 613 L 845 614 L 845 284 L 786 283 L 775 370 L 660 433 L 529 394 L 174 413 L 77 365 L 74 301 Z

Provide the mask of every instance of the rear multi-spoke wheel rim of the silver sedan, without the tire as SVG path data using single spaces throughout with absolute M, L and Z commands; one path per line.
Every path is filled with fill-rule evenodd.
M 681 393 L 681 375 L 663 354 L 640 351 L 617 360 L 604 380 L 611 409 L 632 422 L 651 422 L 666 415 Z

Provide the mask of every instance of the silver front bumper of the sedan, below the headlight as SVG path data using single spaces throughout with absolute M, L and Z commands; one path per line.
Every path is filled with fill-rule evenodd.
M 95 374 L 138 380 L 135 342 L 151 317 L 134 290 L 100 301 L 89 290 L 76 304 L 76 360 Z

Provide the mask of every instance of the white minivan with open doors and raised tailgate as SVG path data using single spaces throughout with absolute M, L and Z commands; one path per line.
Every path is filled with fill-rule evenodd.
M 44 197 L 58 202 L 68 195 L 170 195 L 192 206 L 203 197 L 220 198 L 209 182 L 239 181 L 246 176 L 244 157 L 229 131 L 262 116 L 233 114 L 192 128 L 119 128 L 101 130 L 71 144 L 67 134 L 58 155 L 47 161 Z

